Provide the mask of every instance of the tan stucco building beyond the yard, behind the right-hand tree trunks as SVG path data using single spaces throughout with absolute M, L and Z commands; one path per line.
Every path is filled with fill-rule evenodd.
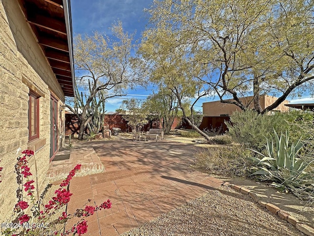
M 249 102 L 252 101 L 252 99 L 253 99 L 252 96 L 240 98 L 240 100 L 244 104 L 248 104 Z M 271 105 L 273 102 L 276 101 L 276 99 L 277 99 L 276 97 L 268 95 L 261 96 L 260 102 L 262 109 Z M 281 103 L 276 109 L 274 109 L 274 111 L 288 112 L 289 108 L 284 104 L 288 104 L 288 100 L 285 100 L 283 103 Z M 250 104 L 249 108 L 251 109 L 254 108 L 253 103 Z M 241 111 L 241 109 L 234 104 L 221 103 L 220 101 L 203 103 L 203 115 L 205 117 L 220 117 L 220 115 L 231 116 L 232 113 L 235 111 Z

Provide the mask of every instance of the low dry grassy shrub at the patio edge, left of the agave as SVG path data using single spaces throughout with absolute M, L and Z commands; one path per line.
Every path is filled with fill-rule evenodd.
M 208 148 L 195 154 L 195 168 L 199 171 L 229 177 L 248 177 L 253 163 L 251 151 L 243 146 Z

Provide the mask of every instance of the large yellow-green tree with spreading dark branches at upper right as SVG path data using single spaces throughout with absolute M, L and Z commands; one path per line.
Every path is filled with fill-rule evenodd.
M 223 103 L 264 114 L 288 96 L 313 94 L 313 0 L 154 0 L 148 12 L 151 34 L 177 35 L 160 47 L 188 49 Z M 262 94 L 278 99 L 262 110 Z

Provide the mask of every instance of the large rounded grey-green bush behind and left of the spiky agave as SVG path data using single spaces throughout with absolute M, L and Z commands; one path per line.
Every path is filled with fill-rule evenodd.
M 235 142 L 259 151 L 266 144 L 265 137 L 270 137 L 274 128 L 278 132 L 288 128 L 288 123 L 281 114 L 265 116 L 253 110 L 234 112 L 230 117 L 230 122 L 226 122 L 226 125 L 229 135 Z

